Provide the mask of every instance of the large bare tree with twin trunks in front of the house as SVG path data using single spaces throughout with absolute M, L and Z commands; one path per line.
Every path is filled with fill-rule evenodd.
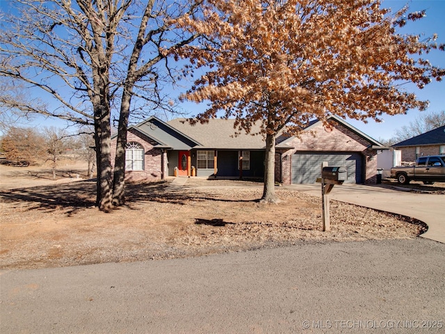
M 168 108 L 175 80 L 168 54 L 195 39 L 175 28 L 199 1 L 17 0 L 4 15 L 0 77 L 39 95 L 39 103 L 0 95 L 2 107 L 40 113 L 95 129 L 97 205 L 124 202 L 124 154 L 131 115 Z M 44 101 L 44 103 L 40 103 Z M 111 120 L 119 120 L 114 177 Z

